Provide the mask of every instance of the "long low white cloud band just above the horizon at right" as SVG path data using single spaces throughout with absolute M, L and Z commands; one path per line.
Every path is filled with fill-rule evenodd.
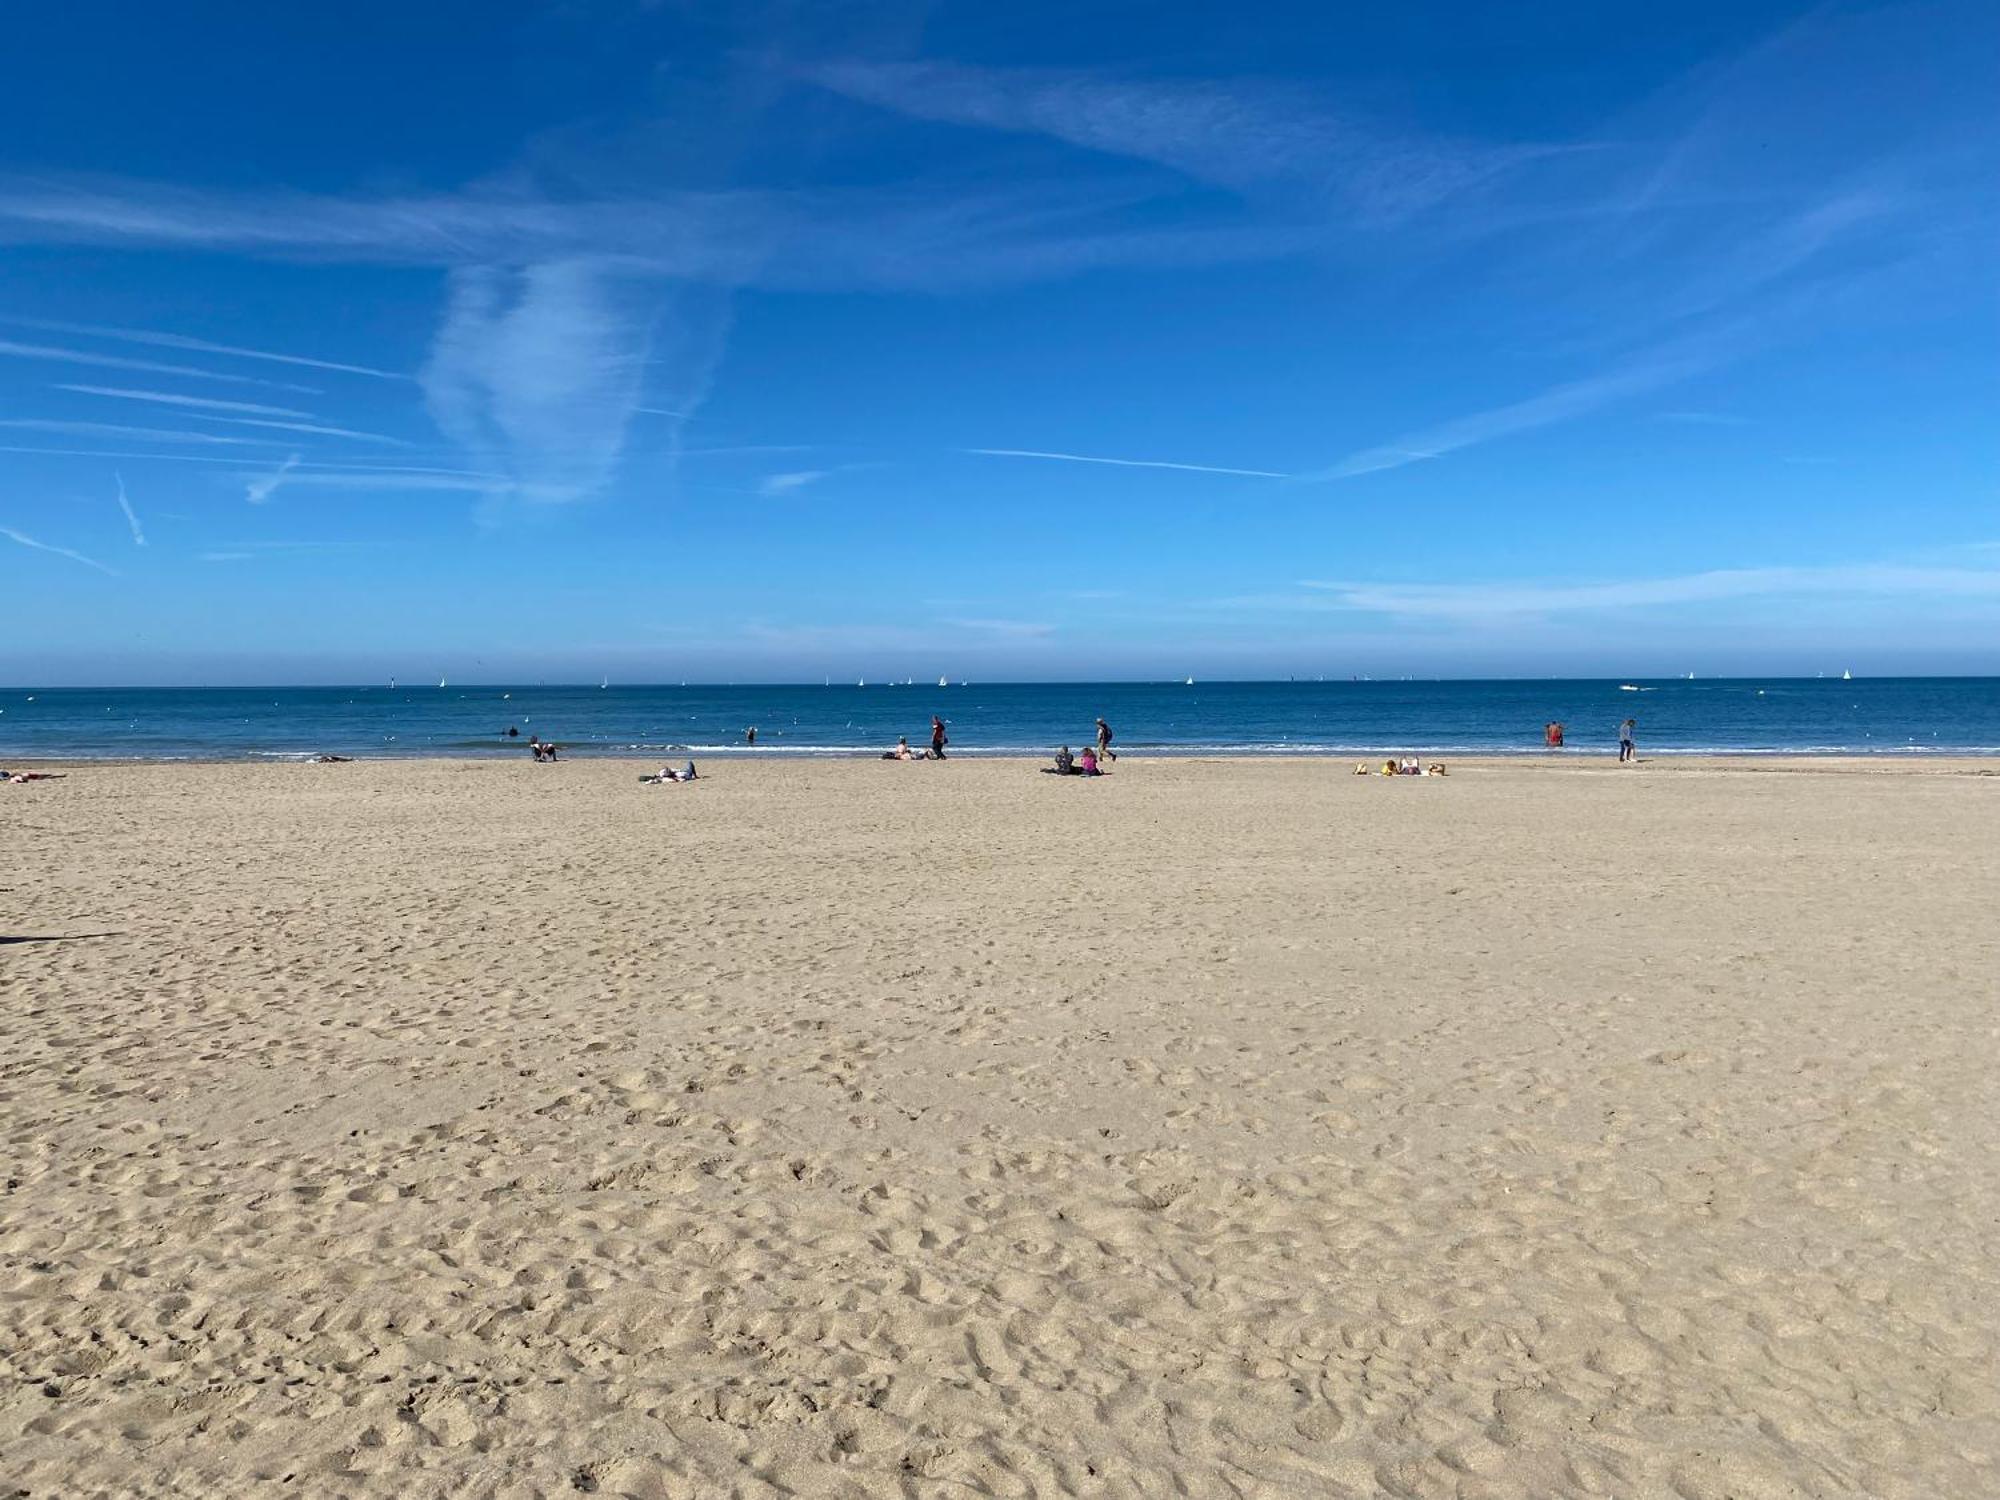
M 1598 614 L 1674 604 L 1780 596 L 1888 596 L 1900 600 L 2000 600 L 2000 568 L 1850 564 L 1810 568 L 1716 568 L 1668 578 L 1600 584 L 1380 584 L 1306 580 L 1310 596 L 1290 604 L 1406 618 L 1498 620 L 1508 616 Z M 1284 596 L 1280 596 L 1284 598 Z M 1272 604 L 1278 600 L 1262 600 Z

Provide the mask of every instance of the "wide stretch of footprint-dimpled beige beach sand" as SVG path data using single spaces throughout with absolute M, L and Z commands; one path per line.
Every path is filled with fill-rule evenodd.
M 0 786 L 0 1494 L 2000 1494 L 2000 778 Z

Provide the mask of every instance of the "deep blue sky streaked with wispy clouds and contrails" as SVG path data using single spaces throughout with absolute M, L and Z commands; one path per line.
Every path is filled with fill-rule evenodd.
M 22 10 L 0 680 L 2000 672 L 2000 10 Z

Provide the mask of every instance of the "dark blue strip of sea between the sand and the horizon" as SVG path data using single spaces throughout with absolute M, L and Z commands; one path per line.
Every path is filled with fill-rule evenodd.
M 570 754 L 880 754 L 950 724 L 950 754 L 1080 748 L 1104 714 L 1128 754 L 1994 754 L 2000 678 L 1522 682 L 1102 682 L 842 686 L 0 688 L 0 766 L 30 758 L 216 760 Z M 504 738 L 508 726 L 520 740 Z

